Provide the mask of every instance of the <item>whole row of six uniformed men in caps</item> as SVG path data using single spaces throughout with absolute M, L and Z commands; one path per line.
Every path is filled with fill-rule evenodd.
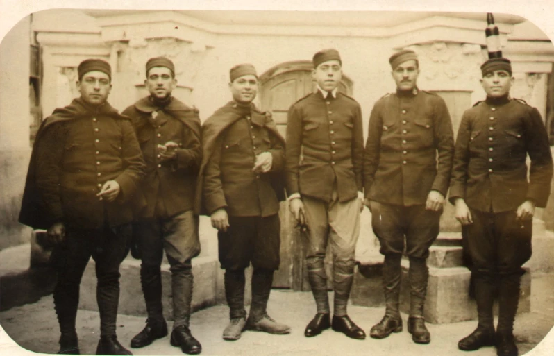
M 462 223 L 479 319 L 477 329 L 458 347 L 494 345 L 500 356 L 517 355 L 512 330 L 521 266 L 531 254 L 535 207 L 546 205 L 553 175 L 539 112 L 510 98 L 510 61 L 487 60 L 481 67 L 487 99 L 464 113 L 454 144 L 446 103 L 417 87 L 416 53 L 400 51 L 389 62 L 396 92 L 373 106 L 365 145 L 360 105 L 339 91 L 342 59 L 335 49 L 314 55 L 317 90 L 289 109 L 286 145 L 271 115 L 253 104 L 258 74 L 252 65 L 230 69 L 233 99 L 201 125 L 198 110 L 171 95 L 175 68 L 167 58 L 146 63 L 150 94 L 123 115 L 106 101 L 112 86 L 110 65 L 103 60 L 81 62 L 81 97 L 56 109 L 37 134 L 20 215 L 22 223 L 47 229 L 56 244 L 52 260 L 58 268 L 54 303 L 61 331 L 59 353 L 79 353 L 79 284 L 92 256 L 101 319 L 96 353 L 131 355 L 115 334 L 119 264 L 131 245 L 133 255 L 142 259 L 148 313 L 131 347 L 147 346 L 168 334 L 160 273 L 165 251 L 171 266 L 171 345 L 183 353 L 201 353 L 189 329 L 191 260 L 200 251 L 199 214 L 210 215 L 218 230 L 230 311 L 223 338 L 237 340 L 244 330 L 289 333 L 289 326 L 267 314 L 280 264 L 279 201 L 285 198 L 305 232 L 308 280 L 317 309 L 305 336 L 332 328 L 353 339 L 366 337 L 346 307 L 360 212 L 367 206 L 384 255 L 386 301 L 385 316 L 370 336 L 382 339 L 403 328 L 398 298 L 401 258 L 407 255 L 408 332 L 414 342 L 428 344 L 430 332 L 423 316 L 426 258 L 439 234 L 450 188 L 449 200 Z M 326 251 L 333 258 L 333 318 Z M 247 314 L 244 270 L 250 264 Z

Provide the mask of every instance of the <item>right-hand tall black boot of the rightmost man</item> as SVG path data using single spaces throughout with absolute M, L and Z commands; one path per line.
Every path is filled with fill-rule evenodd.
M 517 356 L 518 354 L 513 332 L 519 293 L 519 274 L 501 276 L 498 285 L 498 327 L 496 328 L 496 353 L 498 356 Z

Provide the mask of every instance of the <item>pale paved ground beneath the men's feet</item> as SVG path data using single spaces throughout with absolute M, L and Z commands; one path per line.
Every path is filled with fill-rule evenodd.
M 376 291 L 381 293 L 381 291 Z M 330 295 L 330 300 L 333 300 Z M 310 292 L 274 290 L 268 306 L 269 315 L 292 327 L 291 334 L 271 335 L 247 331 L 240 340 L 224 341 L 221 332 L 228 322 L 228 308 L 217 305 L 192 314 L 191 330 L 203 346 L 202 355 L 250 356 L 335 356 L 335 355 L 471 355 L 494 356 L 494 348 L 482 348 L 472 353 L 458 350 L 458 340 L 476 326 L 476 321 L 450 324 L 429 324 L 432 335 L 429 345 L 414 344 L 410 334 L 392 334 L 386 339 L 349 339 L 344 334 L 326 330 L 318 337 L 306 338 L 303 330 L 315 310 Z M 371 326 L 383 315 L 382 308 L 349 306 L 349 315 L 368 334 Z M 403 314 L 406 322 L 408 316 Z M 121 344 L 128 346 L 133 336 L 142 330 L 145 319 L 140 316 L 119 315 L 117 334 Z M 535 273 L 532 278 L 532 310 L 517 317 L 514 334 L 520 355 L 528 353 L 548 334 L 539 347 L 526 355 L 554 355 L 554 273 Z M 0 355 L 36 355 L 56 353 L 58 350 L 58 323 L 53 311 L 52 296 L 44 296 L 30 303 L 0 312 Z M 171 325 L 171 324 L 169 324 Z M 94 354 L 99 338 L 99 314 L 79 310 L 77 332 L 83 354 Z M 25 350 L 10 343 L 13 339 Z M 182 355 L 179 348 L 169 345 L 169 337 L 156 340 L 150 346 L 131 349 L 134 355 Z

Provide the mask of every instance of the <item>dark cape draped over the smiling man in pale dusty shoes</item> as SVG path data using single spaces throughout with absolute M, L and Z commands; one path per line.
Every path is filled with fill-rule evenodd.
M 251 116 L 265 117 L 265 127 L 271 132 L 277 139 L 285 146 L 285 139 L 277 130 L 277 125 L 271 119 L 271 113 L 262 112 L 252 105 Z M 226 103 L 218 110 L 216 110 L 212 116 L 208 117 L 202 125 L 202 163 L 199 171 L 199 178 L 196 182 L 196 198 L 194 199 L 194 212 L 196 214 L 207 215 L 203 204 L 203 176 L 205 166 L 212 157 L 212 153 L 217 147 L 221 147 L 222 133 L 235 123 L 238 119 L 244 117 L 244 109 L 237 107 L 234 101 Z M 285 175 L 283 171 L 280 172 L 268 172 L 271 176 L 271 186 L 274 188 L 279 201 L 285 200 Z

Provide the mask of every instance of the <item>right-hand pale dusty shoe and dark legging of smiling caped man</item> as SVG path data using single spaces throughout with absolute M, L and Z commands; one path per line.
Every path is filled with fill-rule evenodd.
M 266 307 L 271 284 L 273 283 L 273 270 L 254 269 L 252 274 L 252 303 L 250 315 L 246 321 L 246 330 L 268 332 L 269 334 L 288 334 L 290 327 L 278 323 L 267 315 Z

